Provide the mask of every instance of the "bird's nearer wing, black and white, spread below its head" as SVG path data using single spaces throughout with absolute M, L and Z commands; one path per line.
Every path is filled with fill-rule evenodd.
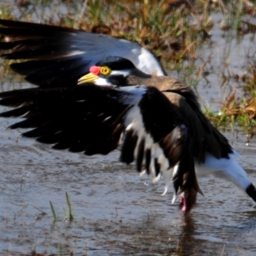
M 0 97 L 1 105 L 15 108 L 0 116 L 22 116 L 24 120 L 10 128 L 31 129 L 23 133 L 26 137 L 87 155 L 108 154 L 122 142 L 122 162 L 135 158 L 139 172 L 151 173 L 154 181 L 164 173 L 168 183 L 180 164 L 184 170 L 175 172 L 181 176 L 175 177 L 175 189 L 195 186 L 186 125 L 177 107 L 154 87 L 30 88 L 2 92 Z M 182 178 L 186 173 L 187 183 Z

